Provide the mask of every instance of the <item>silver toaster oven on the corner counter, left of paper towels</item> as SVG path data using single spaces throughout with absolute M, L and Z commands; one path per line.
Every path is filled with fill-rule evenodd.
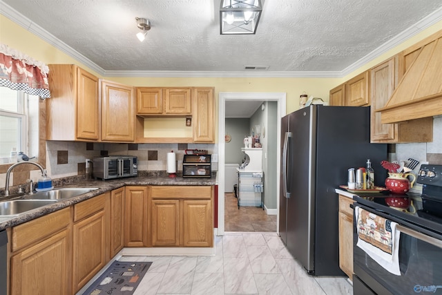
M 93 177 L 107 180 L 138 175 L 137 157 L 110 155 L 93 159 Z

